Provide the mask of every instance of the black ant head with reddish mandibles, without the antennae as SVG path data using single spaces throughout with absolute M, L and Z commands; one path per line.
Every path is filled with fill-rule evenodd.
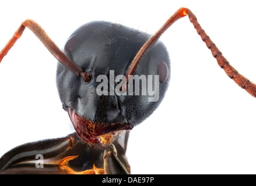
M 169 55 L 160 41 L 146 51 L 134 80 L 129 81 L 128 91 L 118 94 L 118 80 L 126 76 L 136 53 L 149 37 L 120 24 L 92 22 L 68 38 L 65 54 L 92 74 L 90 81 L 85 82 L 58 63 L 59 96 L 83 140 L 100 143 L 106 142 L 107 137 L 114 139 L 114 135 L 131 130 L 159 106 L 170 80 Z

